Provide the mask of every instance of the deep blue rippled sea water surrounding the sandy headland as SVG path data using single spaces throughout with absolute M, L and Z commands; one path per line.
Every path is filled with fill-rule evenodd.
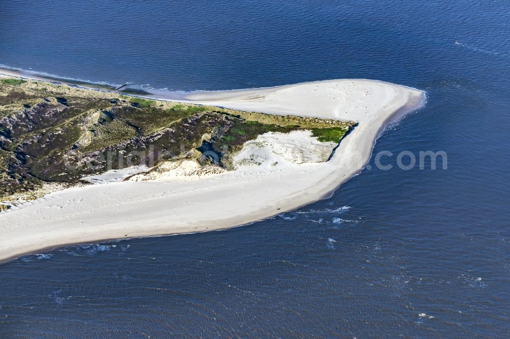
M 0 265 L 0 337 L 508 337 L 509 46 L 498 0 L 2 2 L 8 67 L 172 91 L 425 90 L 374 152 L 445 151 L 448 169 L 372 158 L 329 199 L 252 225 Z

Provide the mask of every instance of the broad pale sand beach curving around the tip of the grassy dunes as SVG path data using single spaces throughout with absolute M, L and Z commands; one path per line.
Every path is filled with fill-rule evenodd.
M 363 170 L 380 132 L 421 107 L 424 92 L 376 80 L 342 79 L 193 92 L 183 100 L 142 97 L 360 124 L 329 161 L 289 167 L 283 173 L 248 168 L 196 182 L 121 182 L 53 193 L 52 200 L 0 215 L 0 233 L 6 239 L 0 240 L 0 262 L 69 244 L 223 230 L 325 199 Z

